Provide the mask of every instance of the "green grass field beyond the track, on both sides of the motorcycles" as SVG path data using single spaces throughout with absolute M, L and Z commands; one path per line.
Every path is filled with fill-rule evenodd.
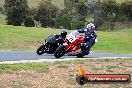
M 0 50 L 36 50 L 48 34 L 60 29 L 0 25 Z M 95 52 L 132 53 L 132 29 L 97 32 Z

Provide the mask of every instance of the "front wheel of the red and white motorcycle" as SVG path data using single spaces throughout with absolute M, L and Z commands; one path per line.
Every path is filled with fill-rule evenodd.
M 64 54 L 65 54 L 65 46 L 64 46 L 64 45 L 61 45 L 61 46 L 59 46 L 59 47 L 56 49 L 56 51 L 55 51 L 55 53 L 54 53 L 54 56 L 55 56 L 56 58 L 60 58 L 60 57 L 62 57 Z

